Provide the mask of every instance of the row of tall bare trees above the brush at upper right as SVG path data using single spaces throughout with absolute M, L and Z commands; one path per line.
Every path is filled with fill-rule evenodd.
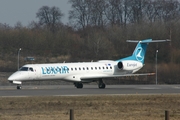
M 130 23 L 177 21 L 178 0 L 69 0 L 69 18 L 77 28 L 108 25 L 126 26 Z

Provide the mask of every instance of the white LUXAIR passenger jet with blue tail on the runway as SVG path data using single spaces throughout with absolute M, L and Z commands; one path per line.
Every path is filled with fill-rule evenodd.
M 145 39 L 135 42 L 137 46 L 133 54 L 118 60 L 99 60 L 97 62 L 27 64 L 13 73 L 8 81 L 22 89 L 24 81 L 64 80 L 73 82 L 76 88 L 83 88 L 84 83 L 97 82 L 100 89 L 106 87 L 104 78 L 154 75 L 154 73 L 134 74 L 144 66 L 146 49 L 149 43 L 170 40 Z

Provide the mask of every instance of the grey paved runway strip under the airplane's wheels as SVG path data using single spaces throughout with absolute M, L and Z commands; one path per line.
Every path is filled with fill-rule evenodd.
M 74 85 L 23 86 L 17 90 L 16 86 L 1 86 L 1 97 L 26 96 L 83 96 L 83 95 L 128 95 L 128 94 L 178 94 L 180 85 L 107 85 L 99 89 L 97 85 L 84 85 L 77 89 Z

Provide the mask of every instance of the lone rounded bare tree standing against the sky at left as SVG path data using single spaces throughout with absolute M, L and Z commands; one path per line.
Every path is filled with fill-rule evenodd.
M 39 24 L 47 26 L 52 32 L 55 32 L 61 18 L 64 14 L 58 7 L 41 7 L 36 13 L 36 17 L 39 18 Z

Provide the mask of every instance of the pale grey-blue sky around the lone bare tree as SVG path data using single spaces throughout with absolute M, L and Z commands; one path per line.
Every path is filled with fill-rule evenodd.
M 68 22 L 68 12 L 71 5 L 68 0 L 0 0 L 0 23 L 14 26 L 18 21 L 27 26 L 32 21 L 38 21 L 36 13 L 42 6 L 56 6 L 64 13 L 62 22 Z

